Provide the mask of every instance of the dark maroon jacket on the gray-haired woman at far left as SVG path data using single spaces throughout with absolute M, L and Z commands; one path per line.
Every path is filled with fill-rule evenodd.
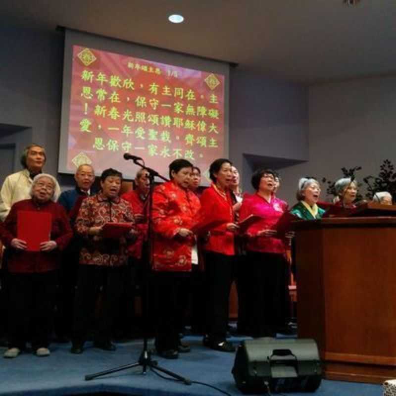
M 25 250 L 15 250 L 11 247 L 11 241 L 17 235 L 17 218 L 19 210 L 41 211 L 51 213 L 52 229 L 50 240 L 55 241 L 57 247 L 49 252 L 33 252 Z M 62 251 L 71 238 L 73 232 L 69 224 L 69 219 L 62 205 L 48 201 L 44 204 L 37 204 L 32 199 L 24 199 L 11 206 L 8 216 L 0 229 L 1 241 L 9 250 L 8 269 L 13 273 L 36 273 L 55 270 L 60 260 Z

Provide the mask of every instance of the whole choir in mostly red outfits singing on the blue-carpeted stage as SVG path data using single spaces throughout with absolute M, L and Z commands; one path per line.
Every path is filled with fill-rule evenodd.
M 71 338 L 72 353 L 84 351 L 91 330 L 94 347 L 115 350 L 114 327 L 133 320 L 128 313 L 134 298 L 131 284 L 147 262 L 146 286 L 154 302 L 144 305 L 152 307 L 155 348 L 164 358 L 191 350 L 180 338 L 188 301 L 191 324 L 203 334 L 203 345 L 235 351 L 227 341 L 233 281 L 238 332 L 274 337 L 285 326 L 294 233 L 281 232 L 278 224 L 285 213 L 304 220 L 323 216 L 315 178 L 299 180 L 298 202 L 289 209 L 276 195 L 281 180 L 271 169 L 255 171 L 255 193 L 243 195 L 238 170 L 219 158 L 209 168 L 210 187 L 202 191 L 200 170 L 176 159 L 169 164 L 170 181 L 154 188 L 150 208 L 145 169 L 137 173 L 134 189 L 121 195 L 122 174 L 106 169 L 94 194 L 94 169 L 84 164 L 77 169 L 76 188 L 60 194 L 56 179 L 42 171 L 45 162 L 43 147 L 28 146 L 21 158 L 23 170 L 8 176 L 1 188 L 1 300 L 8 311 L 4 357 L 18 356 L 28 342 L 36 355 L 48 356 L 53 330 L 58 337 Z M 355 180 L 340 179 L 335 189 L 336 205 L 354 206 Z M 374 200 L 392 204 L 386 192 Z M 49 240 L 37 251 L 20 238 L 18 218 L 25 212 L 51 216 Z M 106 231 L 108 223 L 117 225 L 115 234 L 111 228 Z M 38 226 L 32 224 L 32 232 Z

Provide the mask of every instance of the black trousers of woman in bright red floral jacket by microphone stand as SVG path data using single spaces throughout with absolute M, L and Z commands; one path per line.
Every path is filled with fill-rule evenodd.
M 157 272 L 152 275 L 156 301 L 155 348 L 159 351 L 177 349 L 179 324 L 184 303 L 180 290 L 188 274 Z

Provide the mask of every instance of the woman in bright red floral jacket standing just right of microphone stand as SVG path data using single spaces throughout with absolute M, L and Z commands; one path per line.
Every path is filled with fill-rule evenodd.
M 175 359 L 190 347 L 179 340 L 180 314 L 177 291 L 183 274 L 191 272 L 196 237 L 192 228 L 200 208 L 198 197 L 189 189 L 193 164 L 176 159 L 169 165 L 171 180 L 158 186 L 153 194 L 153 255 L 157 301 L 155 347 L 162 357 Z

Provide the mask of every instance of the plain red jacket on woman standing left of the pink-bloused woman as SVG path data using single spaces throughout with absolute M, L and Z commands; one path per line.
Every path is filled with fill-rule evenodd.
M 209 238 L 203 244 L 203 250 L 234 255 L 234 233 L 226 229 L 228 223 L 234 222 L 230 192 L 227 192 L 224 196 L 212 184 L 201 195 L 199 227 L 204 227 L 205 224 L 214 220 L 223 221 L 223 223 L 209 230 Z

